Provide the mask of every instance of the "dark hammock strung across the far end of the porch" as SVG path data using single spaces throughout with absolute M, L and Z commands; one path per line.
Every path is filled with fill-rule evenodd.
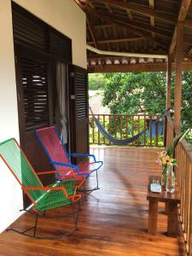
M 90 108 L 90 107 L 89 107 Z M 166 109 L 165 113 L 163 113 L 160 118 L 156 119 L 154 124 L 156 124 L 160 119 L 162 119 L 163 117 L 166 116 L 166 114 L 168 113 L 168 111 L 170 110 L 170 108 Z M 102 136 L 103 137 L 106 137 L 108 139 L 108 141 L 110 143 L 113 143 L 115 145 L 127 145 L 129 143 L 133 143 L 134 141 L 136 141 L 139 137 L 141 137 L 146 131 L 148 131 L 148 129 L 150 128 L 149 124 L 148 126 L 143 130 L 143 131 L 140 131 L 138 132 L 135 136 L 133 137 L 129 137 L 127 139 L 118 139 L 118 138 L 115 138 L 113 136 L 111 136 L 108 131 L 105 130 L 105 128 L 101 125 L 101 123 L 98 121 L 98 119 L 96 119 L 96 116 L 94 115 L 94 113 L 92 112 L 92 109 L 90 108 L 90 112 L 93 116 L 93 119 L 96 123 L 96 126 L 98 128 L 98 130 L 102 133 Z

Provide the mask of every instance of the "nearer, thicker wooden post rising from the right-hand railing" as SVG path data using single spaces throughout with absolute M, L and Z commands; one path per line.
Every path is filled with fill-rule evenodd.
M 180 131 L 182 100 L 183 21 L 177 21 L 176 81 L 174 90 L 174 129 Z

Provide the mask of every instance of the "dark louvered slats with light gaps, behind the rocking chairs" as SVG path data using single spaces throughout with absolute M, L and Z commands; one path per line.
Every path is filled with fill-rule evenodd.
M 43 61 L 21 58 L 26 132 L 49 125 L 47 67 Z

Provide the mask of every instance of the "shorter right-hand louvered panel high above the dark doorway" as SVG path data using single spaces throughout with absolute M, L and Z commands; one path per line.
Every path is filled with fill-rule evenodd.
M 72 40 L 54 29 L 49 29 L 49 53 L 71 63 Z

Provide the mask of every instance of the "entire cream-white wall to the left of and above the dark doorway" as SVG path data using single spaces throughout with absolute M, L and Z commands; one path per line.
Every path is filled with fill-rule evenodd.
M 73 0 L 15 0 L 73 40 L 73 64 L 86 68 L 85 15 Z M 19 140 L 11 0 L 0 0 L 0 142 Z M 20 185 L 0 160 L 0 232 L 20 216 Z

